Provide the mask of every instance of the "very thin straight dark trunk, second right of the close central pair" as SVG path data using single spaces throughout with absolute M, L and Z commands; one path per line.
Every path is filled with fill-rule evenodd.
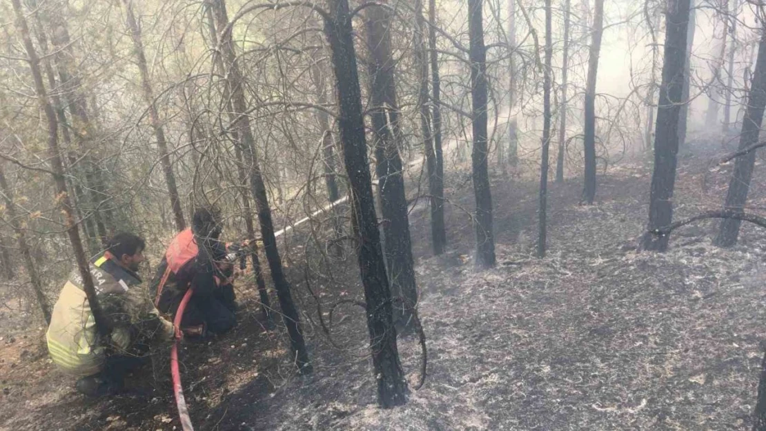
M 551 0 L 545 0 L 545 68 L 543 69 L 542 78 L 542 163 L 540 164 L 539 236 L 537 242 L 537 256 L 540 258 L 545 257 L 548 227 L 548 148 L 551 144 L 551 57 L 553 56 L 551 15 Z

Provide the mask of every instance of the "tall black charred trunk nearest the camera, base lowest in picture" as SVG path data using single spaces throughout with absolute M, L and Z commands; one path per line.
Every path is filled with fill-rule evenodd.
M 352 227 L 359 244 L 358 261 L 365 287 L 372 365 L 378 382 L 378 404 L 388 408 L 406 403 L 407 384 L 399 362 L 396 329 L 391 318 L 391 292 L 375 217 L 349 2 L 328 0 L 327 4 L 330 16 L 325 21 L 325 32 L 336 76 L 340 140 L 351 185 Z

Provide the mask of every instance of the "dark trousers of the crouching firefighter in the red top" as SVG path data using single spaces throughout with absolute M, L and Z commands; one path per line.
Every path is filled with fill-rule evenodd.
M 191 295 L 181 326 L 205 324 L 208 331 L 222 334 L 237 325 L 234 307 L 234 287 L 231 285 L 216 289 L 213 295 Z

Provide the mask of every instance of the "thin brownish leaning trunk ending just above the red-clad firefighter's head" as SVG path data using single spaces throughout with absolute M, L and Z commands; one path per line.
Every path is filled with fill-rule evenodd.
M 186 229 L 184 212 L 181 208 L 181 199 L 178 198 L 178 188 L 175 186 L 175 175 L 173 174 L 173 165 L 168 153 L 168 142 L 165 140 L 165 129 L 162 129 L 162 122 L 159 120 L 157 104 L 154 101 L 154 91 L 152 83 L 149 80 L 149 67 L 146 66 L 146 55 L 144 54 L 143 42 L 141 40 L 141 29 L 136 23 L 136 17 L 133 15 L 133 0 L 123 0 L 125 4 L 128 29 L 133 38 L 133 49 L 136 50 L 136 62 L 141 72 L 141 83 L 143 89 L 144 101 L 149 106 L 149 121 L 154 129 L 154 136 L 157 139 L 157 150 L 159 152 L 159 162 L 162 164 L 162 172 L 165 174 L 165 184 L 168 186 L 168 195 L 170 198 L 170 207 L 175 217 L 175 228 L 180 232 Z

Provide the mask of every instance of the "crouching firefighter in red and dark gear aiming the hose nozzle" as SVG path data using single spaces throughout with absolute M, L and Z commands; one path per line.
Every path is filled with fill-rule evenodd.
M 237 324 L 234 287 L 225 274 L 227 253 L 218 240 L 220 235 L 218 209 L 198 208 L 191 229 L 183 230 L 171 241 L 152 282 L 155 306 L 173 318 L 186 291 L 191 289 L 181 320 L 185 335 L 222 334 Z

